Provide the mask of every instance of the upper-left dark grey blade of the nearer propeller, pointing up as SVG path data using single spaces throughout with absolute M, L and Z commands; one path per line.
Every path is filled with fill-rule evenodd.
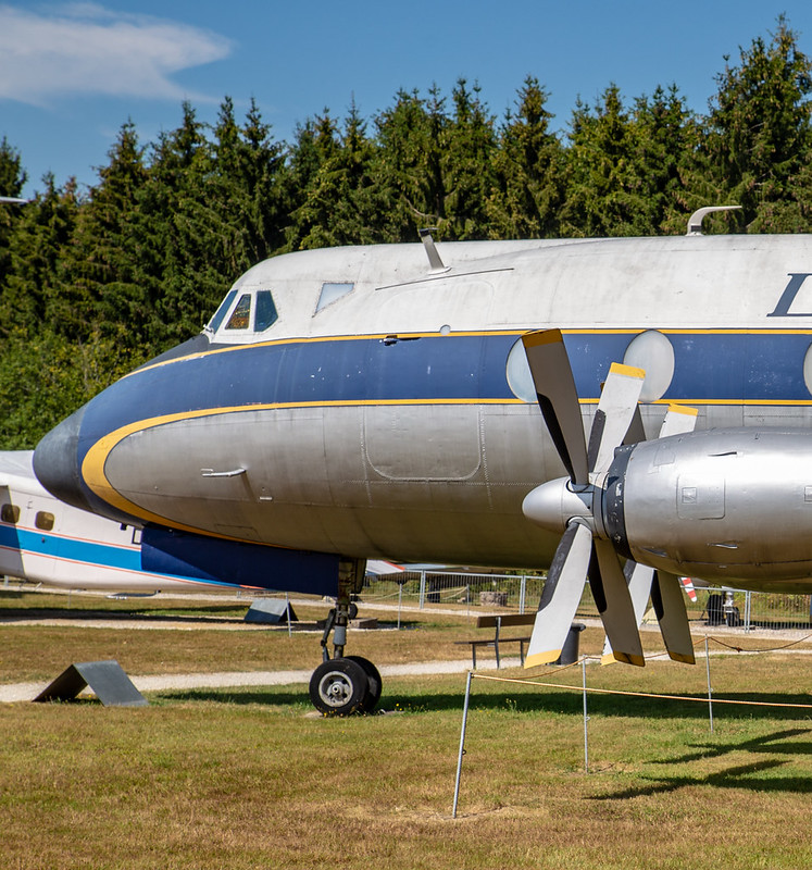
M 559 457 L 574 484 L 589 483 L 586 439 L 570 358 L 560 330 L 522 336 L 538 406 Z

